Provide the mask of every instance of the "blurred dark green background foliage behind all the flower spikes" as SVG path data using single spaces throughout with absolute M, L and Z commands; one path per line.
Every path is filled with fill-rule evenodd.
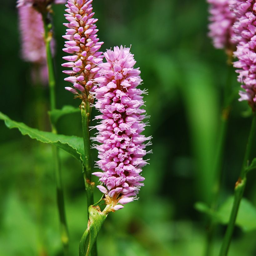
M 152 135 L 150 165 L 143 169 L 145 187 L 138 201 L 109 214 L 98 237 L 99 255 L 204 255 L 207 217 L 194 204 L 209 205 L 226 55 L 207 37 L 208 5 L 184 0 L 95 0 L 95 17 L 103 50 L 131 47 L 147 88 L 146 111 Z M 65 27 L 63 5 L 54 6 L 57 108 L 78 107 L 64 90 L 62 52 Z M 50 131 L 47 86 L 32 86 L 31 65 L 20 58 L 15 0 L 1 2 L 2 31 L 0 111 L 28 126 Z M 238 90 L 236 73 L 232 86 Z M 234 101 L 224 150 L 219 203 L 233 193 L 250 128 L 246 102 Z M 93 115 L 96 114 L 94 110 Z M 62 117 L 58 131 L 81 136 L 79 113 Z M 93 133 L 94 131 L 92 131 Z M 56 207 L 52 150 L 0 122 L 0 255 L 62 255 Z M 254 148 L 253 155 L 256 156 Z M 97 159 L 96 150 L 93 160 Z M 66 215 L 71 255 L 86 228 L 86 194 L 80 163 L 61 151 Z M 256 204 L 256 175 L 250 173 L 245 197 Z M 98 192 L 97 192 L 98 193 Z M 100 193 L 95 198 L 100 199 Z M 228 218 L 229 212 L 226 214 Z M 255 217 L 255 216 L 254 216 Z M 249 217 L 242 219 L 250 221 Z M 250 226 L 252 222 L 248 223 Z M 225 225 L 216 229 L 217 255 Z M 229 255 L 256 255 L 256 231 L 235 228 Z

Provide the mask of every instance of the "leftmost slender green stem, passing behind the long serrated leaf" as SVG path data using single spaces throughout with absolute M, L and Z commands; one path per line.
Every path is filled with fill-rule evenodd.
M 47 56 L 47 67 L 48 67 L 49 89 L 50 89 L 50 106 L 51 106 L 51 110 L 54 110 L 56 108 L 56 103 L 55 103 L 56 82 L 55 82 L 55 75 L 54 75 L 51 45 L 50 45 L 52 40 L 51 23 L 49 23 L 48 21 L 47 14 L 44 14 L 42 16 L 43 16 L 44 30 L 45 30 L 45 45 L 46 45 L 46 56 Z M 52 133 L 57 134 L 56 126 L 53 123 L 52 123 Z M 65 214 L 59 149 L 56 146 L 52 146 L 52 153 L 53 153 L 53 160 L 54 160 L 54 166 L 55 166 L 57 205 L 58 205 L 59 220 L 60 220 L 61 240 L 63 244 L 64 254 L 69 255 L 68 253 L 69 235 L 68 235 L 66 214 Z

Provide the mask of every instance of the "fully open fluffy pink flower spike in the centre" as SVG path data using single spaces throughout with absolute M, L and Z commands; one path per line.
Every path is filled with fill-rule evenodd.
M 141 167 L 147 164 L 145 146 L 150 138 L 141 135 L 146 123 L 142 94 L 137 88 L 142 82 L 139 68 L 134 68 L 135 60 L 130 48 L 114 47 L 104 53 L 106 63 L 100 63 L 95 81 L 95 107 L 101 112 L 96 119 L 98 133 L 93 140 L 99 151 L 97 165 L 103 172 L 95 172 L 102 185 L 97 186 L 105 194 L 106 204 L 112 210 L 123 208 L 123 204 L 136 199 L 143 185 Z M 145 141 L 148 141 L 145 144 Z

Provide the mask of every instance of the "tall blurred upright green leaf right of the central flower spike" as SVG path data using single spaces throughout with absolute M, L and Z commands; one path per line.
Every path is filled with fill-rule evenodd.
M 184 62 L 190 63 L 189 60 Z M 196 189 L 198 197 L 209 203 L 215 175 L 213 161 L 219 110 L 217 90 L 207 65 L 193 62 L 183 68 L 186 76 L 180 86 L 197 160 Z

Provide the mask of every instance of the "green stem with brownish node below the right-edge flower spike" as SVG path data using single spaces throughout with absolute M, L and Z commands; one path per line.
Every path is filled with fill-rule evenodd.
M 229 251 L 229 245 L 231 242 L 231 238 L 232 238 L 232 234 L 233 234 L 233 230 L 234 230 L 234 226 L 235 226 L 235 221 L 236 221 L 237 213 L 239 210 L 239 205 L 240 205 L 241 199 L 243 197 L 244 189 L 245 189 L 245 185 L 246 185 L 246 168 L 248 166 L 248 161 L 249 161 L 251 148 L 252 148 L 252 144 L 253 144 L 255 129 L 256 129 L 256 114 L 254 113 L 251 130 L 249 133 L 246 150 L 245 150 L 245 154 L 244 154 L 243 165 L 241 168 L 239 179 L 235 184 L 234 202 L 233 202 L 233 207 L 232 207 L 231 214 L 229 217 L 229 224 L 226 229 L 226 233 L 225 233 L 225 236 L 224 236 L 224 239 L 222 242 L 219 256 L 226 256 Z

